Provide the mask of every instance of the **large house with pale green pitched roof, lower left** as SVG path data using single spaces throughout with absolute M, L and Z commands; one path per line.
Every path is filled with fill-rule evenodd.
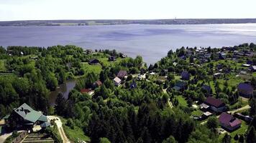
M 47 117 L 42 114 L 42 112 L 35 111 L 24 103 L 12 111 L 8 122 L 16 124 L 16 127 L 31 128 L 34 127 L 34 125 L 47 122 Z

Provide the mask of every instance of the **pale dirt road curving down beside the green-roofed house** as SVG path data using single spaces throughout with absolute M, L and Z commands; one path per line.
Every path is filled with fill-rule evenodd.
M 48 118 L 49 122 L 50 122 L 50 120 L 55 119 L 55 123 L 58 127 L 60 137 L 61 137 L 61 139 L 63 139 L 63 143 L 70 143 L 68 137 L 65 135 L 65 132 L 63 130 L 63 123 L 61 122 L 60 118 L 55 117 L 55 116 L 47 116 L 47 118 Z

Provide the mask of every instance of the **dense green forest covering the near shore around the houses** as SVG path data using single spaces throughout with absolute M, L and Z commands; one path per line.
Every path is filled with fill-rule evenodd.
M 82 132 L 87 142 L 256 142 L 256 99 L 241 97 L 237 90 L 240 82 L 256 89 L 255 72 L 243 66 L 248 61 L 256 65 L 255 51 L 255 44 L 182 47 L 147 66 L 141 56 L 132 59 L 115 50 L 91 51 L 71 45 L 1 47 L 0 117 L 26 102 L 46 115 L 62 117 L 72 142 L 78 140 L 69 131 Z M 120 76 L 120 71 L 127 75 Z M 183 79 L 183 71 L 188 79 Z M 220 77 L 214 77 L 216 71 Z M 122 81 L 119 86 L 113 81 L 116 77 Z M 50 92 L 69 79 L 77 81 L 76 87 L 68 99 L 59 93 L 51 107 Z M 180 82 L 186 89 L 175 89 Z M 226 111 L 237 110 L 252 120 L 242 121 L 237 131 L 219 134 L 220 113 L 203 121 L 194 118 L 203 113 L 198 106 L 209 96 L 227 104 Z M 239 110 L 247 105 L 249 109 Z

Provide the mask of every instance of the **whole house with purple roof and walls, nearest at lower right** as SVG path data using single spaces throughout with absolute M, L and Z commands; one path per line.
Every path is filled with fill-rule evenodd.
M 239 119 L 225 112 L 221 113 L 219 116 L 219 123 L 223 129 L 226 129 L 229 132 L 233 132 L 234 130 L 238 129 L 242 124 Z

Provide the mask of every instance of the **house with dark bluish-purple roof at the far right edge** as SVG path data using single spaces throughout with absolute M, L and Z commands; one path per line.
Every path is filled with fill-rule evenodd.
M 237 86 L 237 90 L 242 97 L 250 98 L 253 96 L 253 88 L 250 84 L 240 83 Z

